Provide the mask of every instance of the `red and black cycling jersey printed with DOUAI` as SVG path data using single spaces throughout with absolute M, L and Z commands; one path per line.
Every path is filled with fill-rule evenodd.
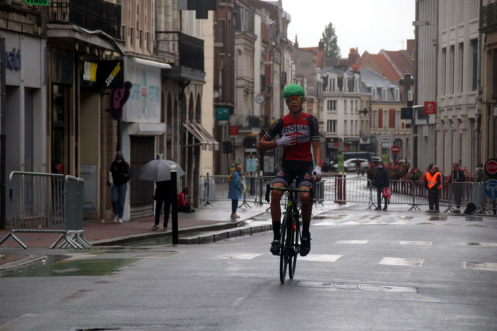
M 271 141 L 277 134 L 280 137 L 284 134 L 297 137 L 296 146 L 284 146 L 283 163 L 285 161 L 313 161 L 311 141 L 319 141 L 318 119 L 313 115 L 306 112 L 302 112 L 298 117 L 286 114 L 273 123 L 264 134 L 264 139 Z

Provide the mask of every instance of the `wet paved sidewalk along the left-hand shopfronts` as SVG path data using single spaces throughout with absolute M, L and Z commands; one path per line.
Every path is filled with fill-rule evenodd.
M 237 214 L 240 215 L 240 219 L 235 221 L 231 220 L 230 217 L 231 201 L 215 201 L 213 205 L 197 208 L 191 214 L 180 212 L 178 213 L 179 232 L 202 232 L 220 230 L 222 228 L 235 228 L 238 224 L 243 223 L 243 221 L 264 213 L 269 207 L 267 204 L 254 205 L 253 203 L 250 203 L 250 206 L 251 208 L 238 208 Z M 154 217 L 124 221 L 122 224 L 113 223 L 112 220 L 106 220 L 105 223 L 101 223 L 99 220 L 85 219 L 83 222 L 84 238 L 92 243 L 92 245 L 119 245 L 130 240 L 146 240 L 170 235 L 173 225 L 172 217 L 169 217 L 168 229 L 166 231 L 162 230 L 164 215 L 161 217 L 159 230 L 151 230 L 154 222 Z M 8 234 L 8 232 L 8 230 L 0 230 L 0 238 Z M 32 249 L 48 248 L 57 240 L 59 234 L 17 232 L 16 237 L 28 246 L 30 253 L 36 254 L 36 250 Z M 0 265 L 26 257 L 23 254 L 16 254 L 16 257 L 12 257 L 14 254 L 7 254 L 5 250 L 2 250 L 3 248 L 21 248 L 21 246 L 12 238 L 2 243 L 0 245 Z

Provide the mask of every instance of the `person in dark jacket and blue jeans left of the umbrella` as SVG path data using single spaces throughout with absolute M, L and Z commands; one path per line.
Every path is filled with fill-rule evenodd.
M 109 183 L 112 185 L 112 203 L 114 211 L 114 223 L 122 223 L 124 213 L 124 202 L 126 201 L 126 190 L 130 179 L 130 166 L 124 160 L 123 153 L 117 152 L 115 159 L 110 165 Z

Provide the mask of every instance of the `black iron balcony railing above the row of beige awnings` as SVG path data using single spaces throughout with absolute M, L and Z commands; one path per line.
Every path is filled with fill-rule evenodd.
M 155 51 L 177 66 L 204 71 L 204 39 L 180 31 L 157 31 Z

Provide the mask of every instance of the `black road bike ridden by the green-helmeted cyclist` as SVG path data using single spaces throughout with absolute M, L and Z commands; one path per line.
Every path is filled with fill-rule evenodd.
M 300 252 L 302 236 L 300 233 L 300 212 L 298 208 L 298 192 L 311 193 L 311 204 L 313 201 L 313 189 L 303 188 L 274 188 L 266 185 L 266 201 L 269 202 L 269 193 L 273 191 L 288 192 L 288 199 L 285 206 L 284 217 L 280 233 L 280 281 L 284 283 L 286 269 L 289 270 L 289 277 L 295 276 L 297 266 L 297 256 Z

